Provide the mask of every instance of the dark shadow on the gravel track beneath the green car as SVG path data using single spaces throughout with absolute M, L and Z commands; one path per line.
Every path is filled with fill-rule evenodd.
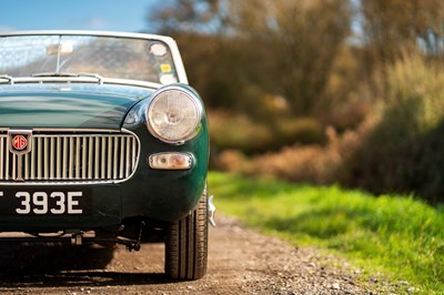
M 69 248 L 68 248 L 69 247 Z M 0 244 L 1 288 L 100 287 L 167 284 L 163 273 L 120 273 L 105 269 L 113 248 Z

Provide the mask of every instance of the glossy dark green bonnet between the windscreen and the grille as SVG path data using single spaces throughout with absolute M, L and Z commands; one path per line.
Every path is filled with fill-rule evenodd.
M 121 128 L 152 89 L 100 84 L 0 85 L 0 128 Z

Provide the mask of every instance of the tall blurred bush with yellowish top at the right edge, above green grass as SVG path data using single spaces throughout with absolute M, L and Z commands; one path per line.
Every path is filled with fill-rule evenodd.
M 344 163 L 343 183 L 444 201 L 444 72 L 421 57 L 387 70 L 381 122 Z M 441 199 L 441 200 L 440 200 Z

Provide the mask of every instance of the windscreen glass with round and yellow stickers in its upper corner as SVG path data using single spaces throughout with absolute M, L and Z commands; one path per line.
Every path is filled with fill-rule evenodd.
M 59 34 L 0 38 L 0 74 L 17 78 L 39 73 L 178 82 L 170 49 L 159 40 Z

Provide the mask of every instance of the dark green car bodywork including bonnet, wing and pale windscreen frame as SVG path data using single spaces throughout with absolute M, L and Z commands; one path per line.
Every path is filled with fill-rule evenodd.
M 9 33 L 0 35 L 0 39 L 10 35 L 43 35 L 48 33 L 63 35 L 97 34 L 129 39 L 153 38 L 165 42 L 170 47 L 175 62 L 174 68 L 180 82 L 175 85 L 194 93 L 195 100 L 203 105 L 199 94 L 186 84 L 188 80 L 179 51 L 171 38 L 135 33 L 52 31 Z M 0 210 L 0 231 L 31 233 L 84 232 L 103 228 L 117 231 L 121 225 L 127 225 L 128 220 L 155 220 L 161 224 L 168 224 L 189 215 L 196 207 L 206 182 L 209 163 L 206 114 L 204 111 L 202 112 L 195 136 L 190 140 L 167 143 L 154 138 L 147 128 L 145 116 L 147 108 L 160 87 L 162 85 L 158 84 L 157 81 L 131 82 L 115 78 L 63 78 L 54 75 L 53 78 L 19 77 L 10 79 L 4 75 L 3 79 L 0 79 L 0 133 L 3 132 L 2 134 L 7 134 L 11 130 L 27 130 L 31 136 L 44 132 L 51 134 L 69 133 L 73 136 L 83 133 L 95 136 L 130 132 L 137 136 L 140 146 L 135 171 L 123 181 L 78 180 L 63 182 L 49 179 L 33 183 L 22 180 L 1 180 L 0 177 L 0 199 L 14 199 L 13 202 L 9 203 L 12 204 L 12 207 L 9 211 L 7 208 L 8 214 Z M 8 138 L 7 145 L 10 145 L 12 140 L 12 138 Z M 4 152 L 3 148 L 0 146 L 0 151 Z M 79 145 L 78 149 L 82 149 L 82 146 Z M 192 159 L 191 167 L 185 170 L 150 167 L 150 155 L 163 152 L 190 155 Z M 10 161 L 18 161 L 16 160 L 18 157 L 20 156 L 13 155 Z M 75 165 L 77 160 L 72 161 L 74 163 L 67 165 Z M 49 163 L 48 160 L 48 163 L 41 165 L 51 165 Z M 14 214 L 18 210 L 20 212 L 26 207 L 20 203 L 26 201 L 20 197 L 23 194 L 17 195 L 18 192 L 22 191 L 31 195 L 31 203 L 39 204 L 42 200 L 41 193 L 48 194 L 46 200 L 52 200 L 51 193 L 54 192 L 68 194 L 81 191 L 88 199 L 88 205 L 83 207 L 82 214 L 58 215 L 51 214 L 51 208 L 54 210 L 56 206 L 56 211 L 58 210 L 56 201 L 52 200 L 52 203 L 48 203 L 50 207 L 46 208 L 42 214 L 40 214 L 43 210 L 42 206 L 34 203 L 28 210 L 28 214 Z M 34 196 L 36 194 L 38 196 Z M 16 199 L 19 199 L 19 201 Z M 0 204 L 1 202 L 3 201 L 0 200 Z M 74 212 L 78 210 L 75 204 L 73 205 Z M 155 224 L 159 225 L 159 223 Z

